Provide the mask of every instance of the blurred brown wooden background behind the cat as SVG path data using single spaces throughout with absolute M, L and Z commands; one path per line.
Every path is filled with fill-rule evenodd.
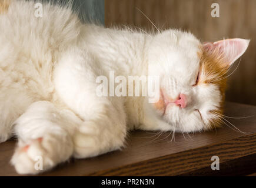
M 215 2 L 220 5 L 219 18 L 211 16 Z M 105 0 L 105 25 L 152 29 L 137 8 L 158 28 L 191 31 L 202 42 L 251 39 L 240 66 L 228 80 L 227 100 L 256 105 L 256 0 Z

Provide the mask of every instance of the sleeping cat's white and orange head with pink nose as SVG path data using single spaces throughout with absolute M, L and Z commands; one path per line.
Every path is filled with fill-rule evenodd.
M 168 30 L 149 47 L 149 75 L 160 78 L 155 112 L 175 130 L 194 132 L 221 123 L 227 72 L 249 40 L 200 43 L 187 32 Z

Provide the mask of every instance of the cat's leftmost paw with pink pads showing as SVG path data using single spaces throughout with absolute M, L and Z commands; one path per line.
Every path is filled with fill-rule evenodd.
M 58 142 L 60 141 L 53 136 L 45 136 L 19 144 L 11 159 L 16 172 L 37 174 L 67 160 L 73 152 L 72 147 L 61 147 Z

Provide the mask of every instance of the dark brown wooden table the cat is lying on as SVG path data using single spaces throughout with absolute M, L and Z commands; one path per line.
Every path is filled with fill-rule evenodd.
M 227 118 L 234 127 L 211 132 L 169 133 L 132 132 L 127 147 L 91 159 L 71 159 L 42 176 L 183 176 L 183 175 L 255 175 L 256 106 L 227 102 L 225 115 L 254 116 Z M 232 127 L 232 129 L 231 129 Z M 15 140 L 0 144 L 0 176 L 17 176 L 9 164 Z M 212 170 L 212 156 L 220 158 L 220 170 Z

